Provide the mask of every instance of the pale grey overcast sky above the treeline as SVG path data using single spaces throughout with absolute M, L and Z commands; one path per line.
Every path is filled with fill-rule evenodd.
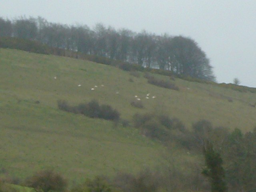
M 0 0 L 0 17 L 97 23 L 194 39 L 217 82 L 256 87 L 256 0 Z

